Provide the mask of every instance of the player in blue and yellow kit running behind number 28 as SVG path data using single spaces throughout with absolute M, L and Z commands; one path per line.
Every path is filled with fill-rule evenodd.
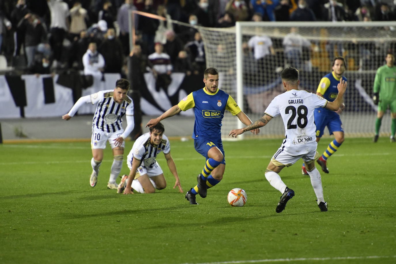
M 345 82 L 347 81 L 345 76 L 343 76 L 345 68 L 345 59 L 343 57 L 335 57 L 333 60 L 333 71 L 329 74 L 326 74 L 322 80 L 320 80 L 316 94 L 329 102 L 333 102 L 338 95 L 337 84 L 339 84 L 340 78 L 343 78 Z M 335 138 L 330 142 L 322 156 L 317 160 L 324 173 L 329 173 L 329 169 L 327 169 L 327 159 L 334 152 L 336 152 L 344 142 L 344 129 L 342 128 L 339 115 L 344 109 L 345 104 L 342 104 L 338 111 L 331 111 L 325 108 L 316 108 L 314 112 L 316 124 L 316 141 L 319 142 L 326 126 L 327 129 L 329 129 L 329 134 L 333 134 Z M 303 174 L 308 175 L 304 164 L 302 167 L 302 172 Z

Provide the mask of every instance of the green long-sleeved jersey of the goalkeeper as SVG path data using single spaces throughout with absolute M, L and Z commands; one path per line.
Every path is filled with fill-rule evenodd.
M 396 66 L 383 65 L 378 68 L 374 79 L 374 93 L 380 99 L 396 100 Z

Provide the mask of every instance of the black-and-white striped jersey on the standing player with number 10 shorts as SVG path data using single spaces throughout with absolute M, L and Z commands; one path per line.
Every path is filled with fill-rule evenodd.
M 91 103 L 97 104 L 92 125 L 105 131 L 116 132 L 122 129 L 122 117 L 133 116 L 133 102 L 128 95 L 119 104 L 114 101 L 114 90 L 105 90 L 90 95 Z

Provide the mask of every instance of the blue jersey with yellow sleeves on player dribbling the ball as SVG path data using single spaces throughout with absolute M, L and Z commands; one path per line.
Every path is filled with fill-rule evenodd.
M 225 110 L 230 111 L 232 115 L 241 112 L 230 95 L 220 89 L 217 89 L 215 93 L 210 93 L 205 87 L 190 93 L 177 105 L 183 111 L 194 108 L 193 139 L 205 137 L 217 142 L 221 142 L 221 120 L 223 120 Z

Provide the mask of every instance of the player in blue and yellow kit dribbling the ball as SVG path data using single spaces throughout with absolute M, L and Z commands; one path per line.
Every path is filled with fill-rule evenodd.
M 237 116 L 245 125 L 252 123 L 234 99 L 218 88 L 219 72 L 216 68 L 207 68 L 204 71 L 204 84 L 203 89 L 190 93 L 177 105 L 169 108 L 158 118 L 151 119 L 146 125 L 146 127 L 156 125 L 165 118 L 194 108 L 195 124 L 192 132 L 194 148 L 205 157 L 206 162 L 197 177 L 198 184 L 186 194 L 186 199 L 190 204 L 197 204 L 196 194 L 199 193 L 202 198 L 205 198 L 207 189 L 223 179 L 225 158 L 221 141 L 221 120 L 223 120 L 225 110 Z M 259 131 L 259 129 L 252 130 L 254 134 Z

